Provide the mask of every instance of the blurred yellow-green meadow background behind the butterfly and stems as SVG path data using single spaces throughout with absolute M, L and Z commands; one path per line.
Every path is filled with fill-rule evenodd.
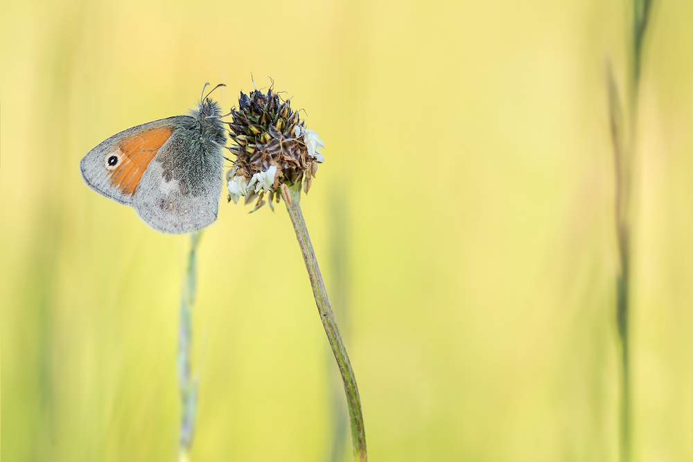
M 604 63 L 623 85 L 631 6 L 607 3 L 3 0 L 3 461 L 175 459 L 188 239 L 78 161 L 251 73 L 326 145 L 302 205 L 371 461 L 617 461 Z M 635 461 L 693 460 L 691 17 L 657 2 L 644 48 Z M 343 392 L 280 206 L 222 199 L 204 233 L 193 462 L 329 459 Z

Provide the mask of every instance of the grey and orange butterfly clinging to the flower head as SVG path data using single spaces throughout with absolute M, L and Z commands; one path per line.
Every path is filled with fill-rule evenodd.
M 205 84 L 204 88 L 209 84 Z M 209 94 L 186 116 L 128 128 L 99 143 L 80 161 L 89 188 L 164 233 L 188 233 L 217 217 L 226 130 Z

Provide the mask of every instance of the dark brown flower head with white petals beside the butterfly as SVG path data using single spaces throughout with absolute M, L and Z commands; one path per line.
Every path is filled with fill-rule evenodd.
M 324 143 L 313 130 L 306 130 L 298 112 L 291 109 L 290 101 L 279 98 L 270 87 L 266 94 L 251 91 L 240 93 L 238 109 L 231 109 L 234 121 L 228 123 L 232 145 L 229 150 L 236 156 L 234 166 L 227 172 L 229 201 L 245 204 L 259 197 L 256 211 L 265 201 L 263 191 L 279 193 L 304 181 L 306 193 L 317 172 L 317 164 L 324 161 L 318 148 Z M 283 192 L 283 191 L 282 191 Z M 276 194 L 274 197 L 285 197 Z M 270 202 L 272 202 L 272 195 Z

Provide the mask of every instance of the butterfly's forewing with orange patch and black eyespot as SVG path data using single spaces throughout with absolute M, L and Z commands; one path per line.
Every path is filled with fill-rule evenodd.
M 186 119 L 164 118 L 114 134 L 82 158 L 82 179 L 97 193 L 131 204 L 148 166 Z

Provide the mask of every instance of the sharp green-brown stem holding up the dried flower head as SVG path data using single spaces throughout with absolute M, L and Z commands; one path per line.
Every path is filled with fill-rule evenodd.
M 344 341 L 342 341 L 340 330 L 337 328 L 337 321 L 335 321 L 330 299 L 327 296 L 325 284 L 322 281 L 322 275 L 317 265 L 315 251 L 313 251 L 313 245 L 310 244 L 310 236 L 308 236 L 306 221 L 304 220 L 303 213 L 301 213 L 301 206 L 299 206 L 299 200 L 301 199 L 301 182 L 299 181 L 297 184 L 290 186 L 288 191 L 290 203 L 289 201 L 284 201 L 286 203 L 286 210 L 291 217 L 291 222 L 296 231 L 296 238 L 299 241 L 299 247 L 301 247 L 301 253 L 306 262 L 306 269 L 308 269 L 308 277 L 310 278 L 310 285 L 313 287 L 313 296 L 315 296 L 315 304 L 317 305 L 317 311 L 322 320 L 322 326 L 325 328 L 325 333 L 332 347 L 332 352 L 335 354 L 335 359 L 337 359 L 337 366 L 339 366 L 340 373 L 342 373 L 344 393 L 347 394 L 347 406 L 349 407 L 349 418 L 351 420 L 353 457 L 355 461 L 365 462 L 368 460 L 366 452 L 366 432 L 363 426 L 361 399 L 358 396 L 356 376 L 353 373 L 353 368 L 351 368 L 349 355 L 347 355 L 347 348 L 344 346 Z

